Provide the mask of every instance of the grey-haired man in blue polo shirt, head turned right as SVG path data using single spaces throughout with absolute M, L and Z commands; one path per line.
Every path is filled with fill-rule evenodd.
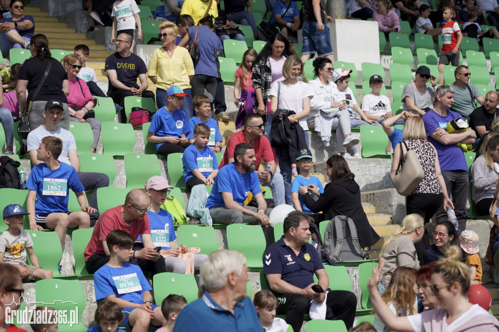
M 174 332 L 261 332 L 263 328 L 246 293 L 250 277 L 246 257 L 236 250 L 210 254 L 201 266 L 203 296 L 179 314 Z

